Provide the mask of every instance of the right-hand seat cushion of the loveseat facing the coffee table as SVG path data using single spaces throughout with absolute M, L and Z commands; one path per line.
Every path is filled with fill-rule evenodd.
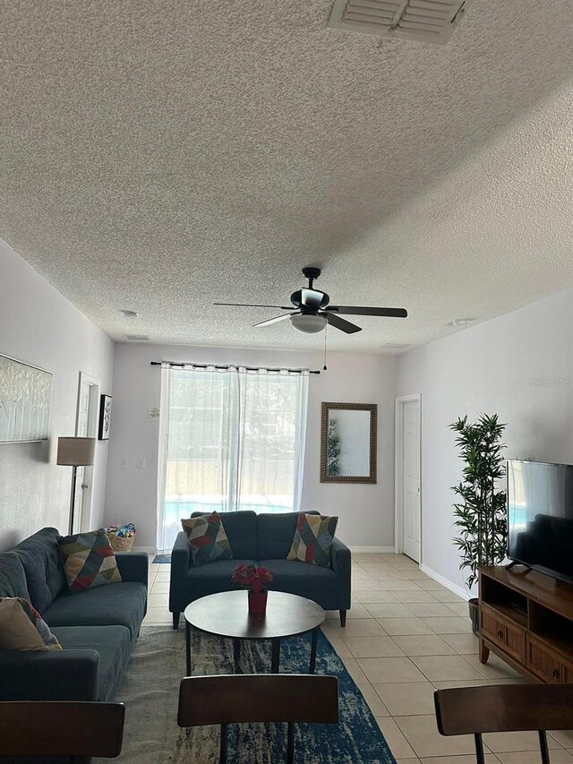
M 261 560 L 273 575 L 269 590 L 285 591 L 312 599 L 324 608 L 337 607 L 337 576 L 330 568 L 306 565 L 298 560 Z M 332 603 L 332 604 L 331 604 Z

